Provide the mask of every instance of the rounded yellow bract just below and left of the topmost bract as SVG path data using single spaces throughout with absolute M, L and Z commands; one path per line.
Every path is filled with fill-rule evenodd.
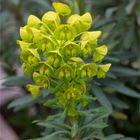
M 50 11 L 43 15 L 42 21 L 48 26 L 52 31 L 60 24 L 60 18 L 57 13 Z M 47 28 L 47 27 L 46 27 Z

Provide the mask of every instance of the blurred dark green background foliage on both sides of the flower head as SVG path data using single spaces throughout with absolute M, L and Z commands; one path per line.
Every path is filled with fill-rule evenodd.
M 60 0 L 55 0 L 60 1 Z M 101 30 L 101 44 L 107 44 L 106 62 L 112 68 L 106 80 L 95 81 L 94 96 L 100 104 L 112 108 L 109 126 L 105 133 L 122 133 L 139 139 L 140 134 L 140 1 L 138 0 L 61 0 L 71 5 L 73 12 L 89 11 L 94 20 L 91 30 Z M 25 96 L 2 106 L 2 114 L 21 139 L 37 137 L 41 128 L 31 122 L 43 119 L 51 113 L 41 106 L 44 94 L 33 100 L 24 86 L 30 81 L 20 70 L 20 49 L 16 44 L 19 28 L 24 26 L 30 14 L 39 18 L 51 10 L 51 0 L 0 0 L 0 63 L 5 70 L 5 86 L 20 86 Z M 20 76 L 19 76 L 20 75 Z M 98 92 L 98 94 L 96 94 Z M 120 94 L 121 93 L 121 94 Z M 127 95 L 127 96 L 126 96 Z M 32 108 L 31 108 L 32 106 Z M 31 113 L 34 110 L 34 113 Z M 24 123 L 23 123 L 24 121 Z

